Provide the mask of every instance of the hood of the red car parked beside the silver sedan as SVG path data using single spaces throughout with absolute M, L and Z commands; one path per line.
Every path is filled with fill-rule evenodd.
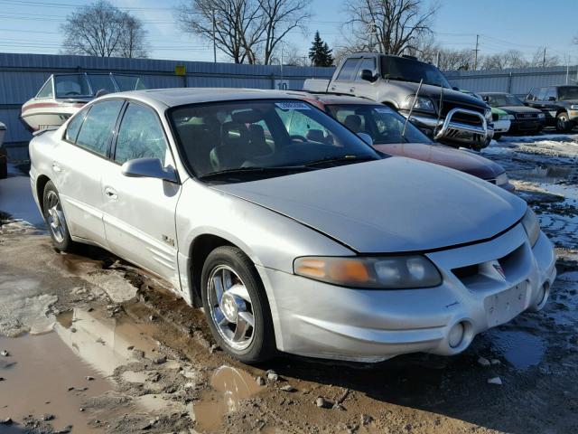
M 450 146 L 398 143 L 376 144 L 373 147 L 391 156 L 406 156 L 433 163 L 434 165 L 444 165 L 486 180 L 495 179 L 496 176 L 505 172 L 501 165 L 490 161 L 488 158 Z

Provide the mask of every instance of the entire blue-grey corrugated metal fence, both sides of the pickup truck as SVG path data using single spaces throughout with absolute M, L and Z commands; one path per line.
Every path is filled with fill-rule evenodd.
M 184 65 L 186 76 L 175 75 Z M 52 73 L 70 71 L 123 72 L 144 76 L 149 88 L 231 87 L 274 89 L 280 80 L 278 65 L 237 65 L 200 61 L 159 61 L 87 56 L 0 53 L 0 121 L 7 128 L 5 142 L 13 159 L 26 157 L 30 134 L 18 119 L 24 101 L 32 98 Z M 283 68 L 288 89 L 299 90 L 308 78 L 330 78 L 333 68 Z M 532 68 L 505 71 L 446 71 L 452 86 L 472 91 L 508 91 L 526 95 L 537 86 L 564 84 L 578 79 L 576 67 Z M 19 148 L 14 146 L 20 146 Z

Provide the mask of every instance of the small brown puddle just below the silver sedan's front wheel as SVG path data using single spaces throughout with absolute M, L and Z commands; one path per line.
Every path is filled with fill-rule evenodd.
M 238 410 L 241 401 L 262 389 L 249 373 L 230 366 L 221 366 L 215 371 L 210 386 L 211 396 L 193 404 L 195 429 L 219 429 L 224 415 Z

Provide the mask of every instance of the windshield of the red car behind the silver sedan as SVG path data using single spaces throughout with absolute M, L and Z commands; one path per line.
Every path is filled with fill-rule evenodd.
M 376 145 L 432 141 L 393 109 L 376 104 L 329 104 L 331 116 L 354 133 L 368 134 Z M 404 135 L 404 127 L 406 134 Z

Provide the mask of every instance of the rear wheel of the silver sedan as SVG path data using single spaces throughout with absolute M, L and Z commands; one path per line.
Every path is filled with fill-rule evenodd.
M 70 231 L 62 209 L 61 196 L 51 181 L 44 186 L 42 200 L 44 221 L 48 225 L 54 247 L 60 251 L 71 251 L 76 243 L 70 239 Z

